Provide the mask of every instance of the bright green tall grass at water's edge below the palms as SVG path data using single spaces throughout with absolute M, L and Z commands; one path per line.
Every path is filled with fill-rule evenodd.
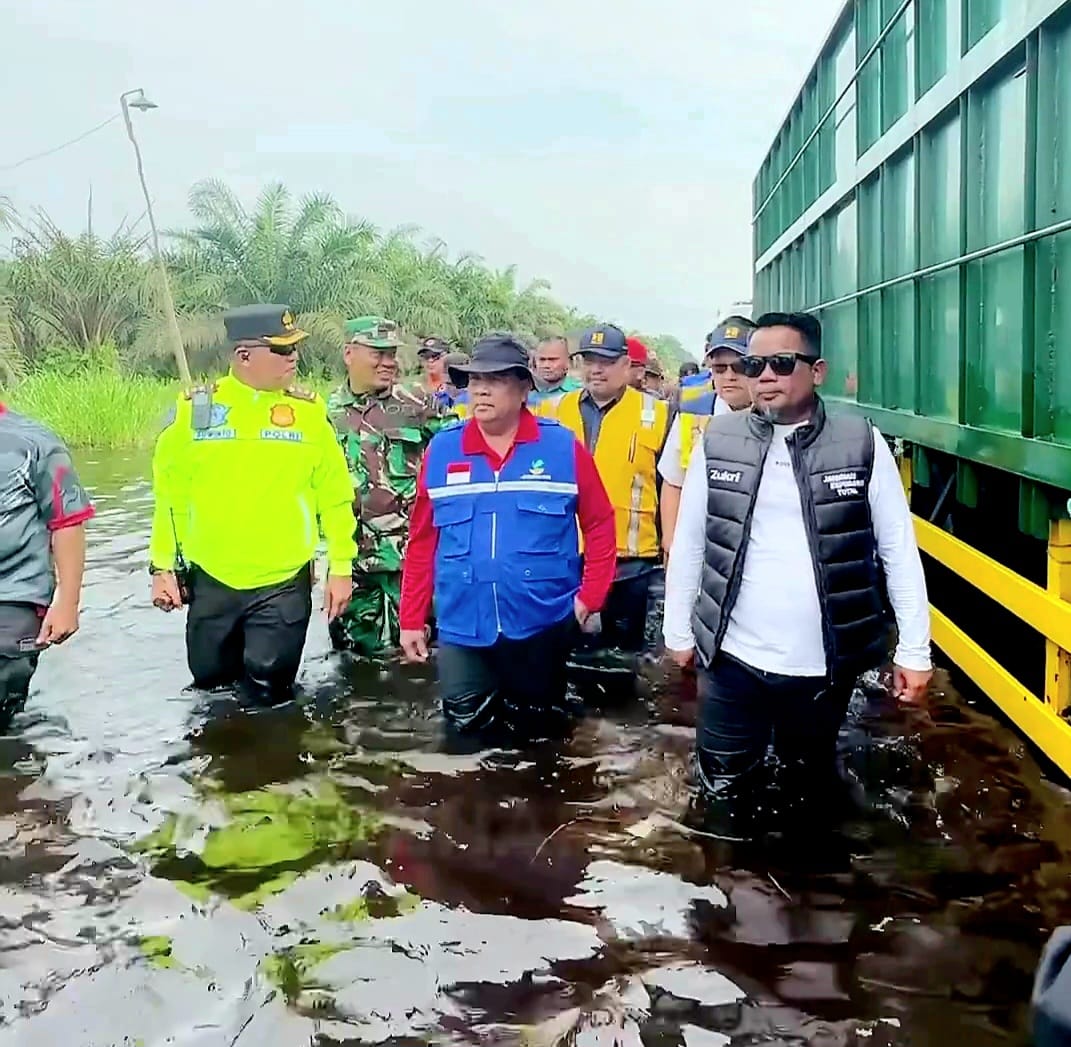
M 175 382 L 107 369 L 36 371 L 0 394 L 71 446 L 105 450 L 151 445 L 177 395 Z

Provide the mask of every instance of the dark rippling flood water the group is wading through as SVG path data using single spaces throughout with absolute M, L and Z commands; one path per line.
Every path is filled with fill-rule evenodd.
M 447 752 L 429 670 L 320 617 L 300 702 L 184 689 L 147 460 L 80 458 L 81 632 L 0 739 L 0 1047 L 1027 1042 L 1068 794 L 945 673 L 929 714 L 857 695 L 843 816 L 733 848 L 653 664 L 526 752 Z

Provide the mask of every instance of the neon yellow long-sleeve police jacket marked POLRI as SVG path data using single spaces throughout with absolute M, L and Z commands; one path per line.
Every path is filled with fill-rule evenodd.
M 180 396 L 156 440 L 152 565 L 175 567 L 178 538 L 187 563 L 232 589 L 273 586 L 313 559 L 322 530 L 328 571 L 348 576 L 353 484 L 323 400 L 228 375 L 211 401 L 207 426 L 194 428 L 190 394 Z

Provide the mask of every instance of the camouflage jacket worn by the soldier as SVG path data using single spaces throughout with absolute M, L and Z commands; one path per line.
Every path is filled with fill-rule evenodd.
M 347 382 L 331 394 L 328 411 L 353 480 L 357 565 L 401 571 L 420 459 L 454 415 L 401 385 L 380 396 L 359 396 Z

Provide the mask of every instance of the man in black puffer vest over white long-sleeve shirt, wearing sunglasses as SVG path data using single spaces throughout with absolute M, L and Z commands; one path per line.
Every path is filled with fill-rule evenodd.
M 753 813 L 735 814 L 733 801 L 771 737 L 790 770 L 835 767 L 856 679 L 888 656 L 885 591 L 897 696 L 923 701 L 931 677 L 925 579 L 899 471 L 865 419 L 827 414 L 820 323 L 760 317 L 736 366 L 754 407 L 712 419 L 689 464 L 663 629 L 679 665 L 694 654 L 702 667 L 697 773 L 730 820 Z M 801 779 L 823 780 L 834 779 Z

